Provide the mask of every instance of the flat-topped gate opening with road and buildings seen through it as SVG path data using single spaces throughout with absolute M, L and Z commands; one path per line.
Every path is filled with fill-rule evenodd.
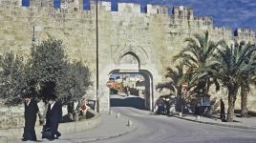
M 153 84 L 150 72 L 114 70 L 109 74 L 110 107 L 153 108 Z

